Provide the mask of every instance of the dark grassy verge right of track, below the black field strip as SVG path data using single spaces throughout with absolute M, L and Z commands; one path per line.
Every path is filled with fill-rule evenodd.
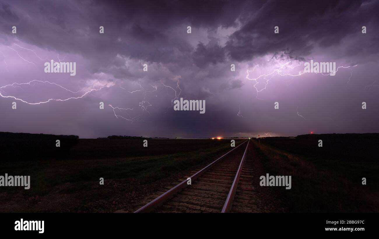
M 255 145 L 262 150 L 270 175 L 291 175 L 292 188 L 279 188 L 289 211 L 379 212 L 377 163 L 310 158 Z M 367 185 L 362 185 L 362 177 Z

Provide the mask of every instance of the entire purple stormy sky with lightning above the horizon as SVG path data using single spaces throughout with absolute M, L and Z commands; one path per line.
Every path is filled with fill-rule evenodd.
M 378 12 L 379 1 L 359 0 L 1 0 L 0 131 L 82 138 L 379 132 Z M 76 75 L 45 73 L 51 59 L 76 62 Z M 335 76 L 304 73 L 312 59 L 340 68 Z M 180 97 L 205 100 L 205 113 L 174 111 Z

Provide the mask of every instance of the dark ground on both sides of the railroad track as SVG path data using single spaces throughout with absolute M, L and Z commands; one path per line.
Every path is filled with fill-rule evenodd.
M 230 140 L 148 139 L 148 147 L 141 139 L 69 140 L 74 143 L 64 154 L 55 151 L 54 141 L 40 160 L 36 149 L 28 160 L 30 147 L 19 158 L 2 158 L 0 175 L 30 175 L 31 188 L 0 187 L 0 212 L 133 212 L 230 150 Z M 251 142 L 254 212 L 379 211 L 377 134 Z M 292 188 L 259 186 L 266 173 L 291 175 Z

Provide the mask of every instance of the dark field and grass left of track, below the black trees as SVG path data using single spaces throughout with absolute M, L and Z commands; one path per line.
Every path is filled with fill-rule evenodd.
M 157 191 L 162 180 L 169 184 L 182 177 L 186 169 L 230 150 L 230 140 L 147 140 L 148 147 L 143 147 L 143 140 L 79 139 L 66 149 L 64 158 L 49 158 L 46 151 L 41 152 L 41 160 L 2 158 L 0 175 L 30 175 L 31 186 L 28 190 L 1 187 L 0 212 L 113 212 L 119 209 L 117 198 L 127 203 L 124 208 L 128 203 L 138 203 Z M 237 145 L 241 142 L 236 140 Z M 55 140 L 52 147 L 55 148 Z M 20 154 L 26 157 L 27 150 L 24 148 Z M 104 185 L 99 185 L 100 177 Z M 111 206 L 108 200 L 112 200 Z M 98 206 L 103 202 L 107 206 Z

